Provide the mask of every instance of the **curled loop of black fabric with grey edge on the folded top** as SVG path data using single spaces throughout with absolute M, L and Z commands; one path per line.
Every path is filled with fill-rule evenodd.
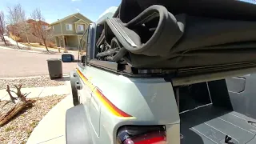
M 164 56 L 182 37 L 184 26 L 164 6 L 150 6 L 128 23 L 119 18 L 106 19 L 105 37 L 116 37 L 133 54 Z

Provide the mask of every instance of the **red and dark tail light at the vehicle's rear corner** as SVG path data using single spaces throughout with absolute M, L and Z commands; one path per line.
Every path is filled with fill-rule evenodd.
M 165 126 L 123 126 L 118 130 L 118 144 L 166 144 Z

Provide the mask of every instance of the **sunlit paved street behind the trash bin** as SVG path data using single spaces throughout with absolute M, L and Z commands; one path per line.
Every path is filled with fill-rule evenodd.
M 0 78 L 47 75 L 49 58 L 61 58 L 61 55 L 0 49 Z M 63 74 L 68 74 L 75 66 L 76 63 L 62 63 Z

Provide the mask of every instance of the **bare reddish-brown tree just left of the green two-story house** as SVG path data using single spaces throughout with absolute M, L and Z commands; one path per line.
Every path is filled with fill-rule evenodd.
M 30 17 L 36 21 L 32 24 L 32 34 L 42 40 L 43 44 L 46 46 L 46 50 L 49 51 L 46 42 L 52 35 L 51 30 L 46 30 L 45 18 L 43 18 L 41 10 L 35 9 L 30 14 Z

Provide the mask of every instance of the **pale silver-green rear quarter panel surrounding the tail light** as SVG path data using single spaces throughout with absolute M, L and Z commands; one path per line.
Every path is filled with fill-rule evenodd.
M 166 125 L 168 143 L 179 143 L 178 107 L 170 82 L 162 78 L 126 78 L 91 66 L 86 66 L 83 74 L 114 106 L 133 116 L 115 116 L 92 94 L 100 114 L 96 143 L 115 144 L 118 128 L 126 125 Z M 96 122 L 94 113 L 90 118 Z

